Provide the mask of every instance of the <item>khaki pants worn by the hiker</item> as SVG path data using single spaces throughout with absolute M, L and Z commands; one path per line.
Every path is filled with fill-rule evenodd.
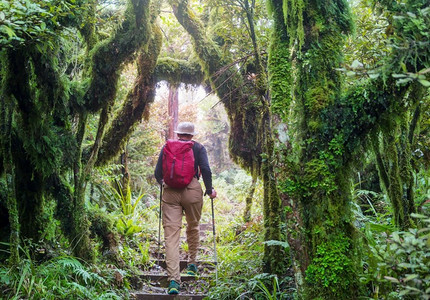
M 179 270 L 179 240 L 182 228 L 182 215 L 187 220 L 188 261 L 196 263 L 199 248 L 199 222 L 203 207 L 203 190 L 197 178 L 183 189 L 164 185 L 163 211 L 164 240 L 166 243 L 166 265 L 170 280 L 181 281 Z

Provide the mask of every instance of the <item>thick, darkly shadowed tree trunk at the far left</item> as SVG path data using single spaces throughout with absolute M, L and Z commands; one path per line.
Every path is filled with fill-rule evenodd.
M 45 185 L 43 177 L 53 172 L 53 170 L 49 170 L 49 167 L 54 168 L 55 159 L 46 164 L 40 160 L 34 163 L 34 160 L 40 159 L 44 151 L 52 158 L 55 150 L 52 145 L 48 144 L 49 140 L 44 139 L 44 136 L 49 134 L 47 132 L 49 129 L 41 126 L 43 114 L 32 97 L 31 68 L 32 61 L 34 62 L 35 59 L 32 56 L 35 56 L 34 52 L 8 51 L 9 68 L 6 72 L 9 73 L 7 76 L 9 82 L 5 82 L 5 85 L 8 86 L 9 92 L 6 97 L 15 99 L 17 108 L 21 111 L 20 115 L 12 113 L 16 118 L 14 125 L 19 124 L 20 129 L 16 131 L 16 128 L 11 128 L 9 139 L 14 150 L 9 150 L 11 160 L 8 161 L 8 164 L 13 164 L 13 167 L 9 167 L 14 170 L 14 178 L 11 182 L 14 183 L 15 188 L 20 230 L 23 237 L 39 241 L 46 232 L 44 227 L 48 223 L 47 218 L 49 219 L 49 216 L 44 215 Z M 36 68 L 37 65 L 34 64 L 34 67 Z M 37 71 L 40 70 L 36 69 Z M 10 105 L 13 107 L 13 104 Z M 27 154 L 29 151 L 32 151 L 32 155 Z

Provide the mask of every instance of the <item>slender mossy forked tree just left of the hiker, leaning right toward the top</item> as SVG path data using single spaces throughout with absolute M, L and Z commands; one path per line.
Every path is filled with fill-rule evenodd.
M 92 80 L 84 96 L 85 106 L 89 111 L 101 109 L 97 135 L 89 157 L 85 160 L 85 165 L 80 167 L 78 163 L 75 169 L 77 186 L 74 193 L 74 252 L 77 256 L 88 259 L 92 259 L 93 251 L 89 239 L 90 222 L 85 212 L 85 191 L 92 169 L 96 165 L 108 163 L 119 154 L 135 124 L 142 119 L 146 105 L 154 99 L 153 72 L 160 52 L 161 35 L 159 29 L 151 24 L 155 17 L 150 14 L 150 1 L 129 1 L 125 15 L 126 18 L 115 35 L 95 46 Z M 135 51 L 140 51 L 135 86 L 110 127 L 106 128 L 116 96 L 118 70 L 133 58 Z

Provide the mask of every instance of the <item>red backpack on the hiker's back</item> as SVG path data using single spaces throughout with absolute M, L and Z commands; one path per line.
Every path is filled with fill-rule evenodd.
M 184 188 L 196 174 L 194 142 L 167 140 L 163 148 L 163 180 L 173 188 Z

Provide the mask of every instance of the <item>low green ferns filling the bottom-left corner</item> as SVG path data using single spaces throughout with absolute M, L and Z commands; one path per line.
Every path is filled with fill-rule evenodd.
M 124 275 L 66 255 L 42 263 L 27 256 L 17 266 L 0 267 L 0 291 L 2 299 L 125 299 Z

